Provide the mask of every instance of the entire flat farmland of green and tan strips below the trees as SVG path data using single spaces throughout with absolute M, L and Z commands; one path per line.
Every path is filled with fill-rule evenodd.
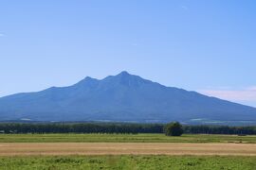
M 255 135 L 0 134 L 0 169 L 255 170 L 254 144 Z

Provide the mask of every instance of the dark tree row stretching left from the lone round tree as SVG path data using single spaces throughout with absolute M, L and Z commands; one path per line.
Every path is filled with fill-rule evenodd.
M 0 133 L 162 133 L 157 124 L 0 124 Z

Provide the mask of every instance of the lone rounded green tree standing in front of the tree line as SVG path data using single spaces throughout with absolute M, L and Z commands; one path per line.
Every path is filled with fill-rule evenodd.
M 183 128 L 178 122 L 167 124 L 164 127 L 166 136 L 181 136 L 183 134 Z

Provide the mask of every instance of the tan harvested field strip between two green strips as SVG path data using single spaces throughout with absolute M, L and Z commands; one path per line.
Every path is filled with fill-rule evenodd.
M 177 143 L 3 143 L 0 156 L 12 155 L 239 155 L 256 156 L 256 144 Z

